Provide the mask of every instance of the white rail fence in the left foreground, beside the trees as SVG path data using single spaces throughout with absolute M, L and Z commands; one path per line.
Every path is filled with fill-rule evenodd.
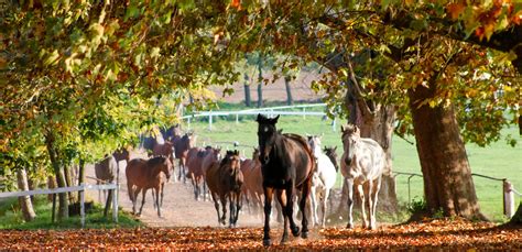
M 116 184 L 106 184 L 106 185 L 88 185 L 81 184 L 79 186 L 70 187 L 58 187 L 53 189 L 37 189 L 37 190 L 20 190 L 20 191 L 7 191 L 0 193 L 1 198 L 11 198 L 11 197 L 24 197 L 32 195 L 51 195 L 51 194 L 62 194 L 78 191 L 79 193 L 79 215 L 81 217 L 81 228 L 85 227 L 85 190 L 113 190 L 112 195 L 112 219 L 115 222 L 118 222 L 118 186 Z

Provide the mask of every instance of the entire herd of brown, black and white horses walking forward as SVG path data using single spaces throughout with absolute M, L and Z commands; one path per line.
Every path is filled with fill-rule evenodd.
M 221 224 L 226 224 L 227 204 L 229 227 L 237 226 L 243 200 L 250 206 L 249 210 L 263 206 L 263 244 L 270 245 L 270 218 L 275 200 L 283 217 L 281 243 L 289 240 L 289 230 L 294 237 L 307 238 L 308 218 L 313 224 L 325 227 L 327 199 L 340 169 L 348 188 L 347 228 L 354 227 L 354 196 L 357 195 L 362 208 L 362 227 L 374 229 L 385 160 L 382 147 L 371 139 L 361 138 L 359 129 L 349 124 L 341 127 L 344 150 L 338 160 L 336 147 L 322 149 L 320 136 L 283 133 L 276 128 L 279 116 L 258 114 L 258 147 L 251 158 L 242 157 L 237 150 L 221 155 L 219 147 L 198 147 L 196 135 L 182 133 L 176 125 L 162 130 L 155 138 L 142 139 L 141 146 L 148 150 L 148 160 L 129 160 L 129 152 L 120 150 L 95 165 L 96 175 L 99 180 L 112 180 L 118 161 L 127 160 L 128 193 L 135 215 L 141 213 L 145 194 L 152 189 L 154 208 L 157 216 L 162 216 L 163 189 L 171 174 L 175 180 L 186 183 L 188 178 L 192 182 L 196 200 L 200 197 L 206 200 L 210 195 Z M 175 160 L 178 160 L 177 176 Z M 140 193 L 142 204 L 137 212 Z M 301 228 L 296 224 L 294 202 L 301 213 Z

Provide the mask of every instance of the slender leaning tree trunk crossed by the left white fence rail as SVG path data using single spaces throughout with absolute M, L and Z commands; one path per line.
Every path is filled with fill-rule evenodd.
M 56 150 L 54 149 L 54 136 L 52 135 L 52 133 L 48 133 L 47 135 L 45 135 L 45 143 L 47 146 L 48 157 L 51 160 L 54 174 L 56 175 L 56 185 L 57 187 L 65 187 L 65 176 L 64 176 L 63 169 L 61 168 L 62 165 L 57 158 Z M 58 201 L 59 201 L 58 220 L 68 218 L 67 194 L 66 193 L 58 194 Z

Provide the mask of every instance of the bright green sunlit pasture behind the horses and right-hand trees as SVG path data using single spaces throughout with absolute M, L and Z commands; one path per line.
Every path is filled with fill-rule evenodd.
M 235 106 L 221 105 L 221 110 L 238 109 Z M 198 135 L 198 145 L 220 145 L 224 149 L 233 149 L 232 142 L 241 144 L 240 150 L 243 155 L 251 156 L 252 149 L 250 145 L 257 145 L 257 122 L 253 116 L 240 117 L 236 122 L 236 117 L 214 118 L 213 129 L 209 130 L 208 120 L 200 118 L 192 120 L 186 128 L 195 130 Z M 323 134 L 323 146 L 338 146 L 338 155 L 342 153 L 342 144 L 340 141 L 340 125 L 337 123 L 336 131 L 333 131 L 331 120 L 323 120 L 320 117 L 296 117 L 284 116 L 279 119 L 278 129 L 283 132 L 292 132 L 298 134 Z M 504 129 L 503 134 L 512 134 L 516 138 L 518 129 Z M 414 141 L 413 136 L 410 141 Z M 508 178 L 518 191 L 522 191 L 522 143 L 515 147 L 511 147 L 503 141 L 491 144 L 487 147 L 479 147 L 475 144 L 466 145 L 471 172 L 476 174 L 487 175 L 498 178 Z M 421 173 L 417 152 L 414 145 L 407 143 L 403 139 L 393 138 L 392 145 L 393 171 L 405 173 Z M 338 176 L 338 185 L 340 185 L 340 174 Z M 406 175 L 398 175 L 396 193 L 399 200 L 403 204 L 407 202 L 407 178 Z M 491 220 L 497 222 L 505 221 L 502 207 L 502 182 L 490 180 L 474 176 L 474 183 L 479 198 L 479 204 L 483 213 Z M 422 177 L 411 178 L 411 198 L 420 200 L 423 196 Z M 520 197 L 515 196 L 516 206 L 520 204 Z

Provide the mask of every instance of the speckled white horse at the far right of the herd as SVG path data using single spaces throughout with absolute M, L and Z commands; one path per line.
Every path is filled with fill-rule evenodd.
M 361 199 L 362 227 L 376 229 L 377 196 L 385 164 L 384 151 L 372 139 L 361 138 L 356 125 L 341 127 L 341 131 L 345 152 L 340 158 L 340 171 L 348 187 L 347 228 L 354 228 L 354 188 L 357 188 Z M 368 204 L 369 219 L 367 218 L 366 204 Z

